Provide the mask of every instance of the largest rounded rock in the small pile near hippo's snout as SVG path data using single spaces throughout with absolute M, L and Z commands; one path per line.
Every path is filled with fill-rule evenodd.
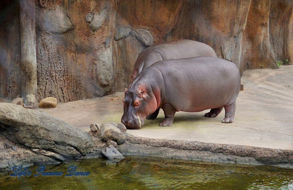
M 119 133 L 121 133 L 121 131 L 114 125 L 105 123 L 102 125 L 100 133 L 103 141 L 116 141 L 119 138 Z

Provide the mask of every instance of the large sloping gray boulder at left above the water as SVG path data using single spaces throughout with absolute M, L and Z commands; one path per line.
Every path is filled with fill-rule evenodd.
M 69 123 L 9 103 L 0 103 L 0 133 L 13 143 L 71 159 L 82 158 L 94 145 L 88 133 Z

